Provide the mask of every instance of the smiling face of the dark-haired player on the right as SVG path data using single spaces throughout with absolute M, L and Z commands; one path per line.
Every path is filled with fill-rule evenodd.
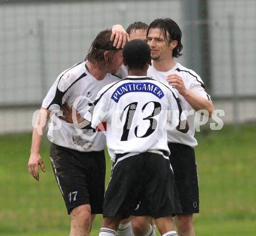
M 167 36 L 170 37 L 169 34 Z M 166 43 L 163 33 L 159 28 L 150 29 L 147 42 L 151 49 L 152 60 L 162 60 L 172 57 L 172 49 L 170 48 L 170 45 Z

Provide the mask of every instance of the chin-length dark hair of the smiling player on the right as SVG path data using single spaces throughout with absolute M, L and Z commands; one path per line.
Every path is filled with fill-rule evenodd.
M 150 31 L 151 28 L 159 28 L 162 31 L 163 37 L 165 38 L 165 41 L 168 45 L 173 40 L 176 40 L 177 46 L 175 49 L 173 49 L 172 56 L 173 57 L 182 56 L 182 53 L 180 53 L 183 49 L 182 31 L 180 30 L 180 27 L 177 25 L 177 23 L 174 20 L 170 18 L 155 19 L 154 21 L 152 21 L 152 23 L 150 23 L 150 26 L 148 26 L 147 37 L 148 37 L 148 32 Z M 169 33 L 170 37 L 168 37 L 167 32 Z

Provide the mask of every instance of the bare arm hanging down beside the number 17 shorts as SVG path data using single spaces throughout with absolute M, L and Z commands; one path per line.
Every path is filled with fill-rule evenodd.
M 44 135 L 45 129 L 49 121 L 49 114 L 50 114 L 49 110 L 45 108 L 41 108 L 37 117 L 37 122 L 34 126 L 35 128 L 33 129 L 28 168 L 29 168 L 30 174 L 37 181 L 39 180 L 38 165 L 40 165 L 42 171 L 45 172 L 44 162 L 42 161 L 42 158 L 40 156 L 40 146 L 41 146 L 42 136 Z

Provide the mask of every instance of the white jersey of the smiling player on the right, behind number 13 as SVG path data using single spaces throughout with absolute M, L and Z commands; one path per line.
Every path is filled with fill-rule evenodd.
M 200 76 L 196 74 L 193 70 L 190 70 L 182 66 L 180 63 L 176 63 L 176 65 L 171 70 L 166 72 L 157 71 L 153 66 L 150 66 L 147 72 L 147 75 L 149 77 L 157 79 L 157 81 L 161 81 L 166 84 L 168 84 L 167 75 L 169 74 L 179 75 L 180 77 L 182 77 L 186 89 L 190 89 L 195 94 L 204 97 L 205 99 L 211 100 L 210 96 L 204 90 L 204 83 L 202 82 Z M 179 95 L 179 100 L 183 111 L 194 111 L 194 109 L 190 106 L 186 99 L 184 99 L 183 96 Z M 197 146 L 197 140 L 194 137 L 194 114 L 195 113 L 193 112 L 193 115 L 187 115 L 187 121 L 189 123 L 189 132 L 181 133 L 177 130 L 168 130 L 168 142 L 181 143 L 190 147 Z

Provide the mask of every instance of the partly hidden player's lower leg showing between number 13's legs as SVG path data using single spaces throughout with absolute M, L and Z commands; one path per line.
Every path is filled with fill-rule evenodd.
M 131 220 L 134 236 L 155 236 L 154 227 L 152 227 L 151 216 L 133 216 Z

